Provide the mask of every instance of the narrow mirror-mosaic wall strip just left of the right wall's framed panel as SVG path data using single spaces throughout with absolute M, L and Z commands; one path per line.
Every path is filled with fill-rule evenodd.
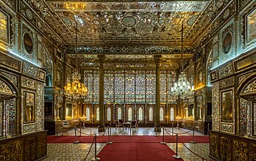
M 213 130 L 220 130 L 219 83 L 213 83 Z

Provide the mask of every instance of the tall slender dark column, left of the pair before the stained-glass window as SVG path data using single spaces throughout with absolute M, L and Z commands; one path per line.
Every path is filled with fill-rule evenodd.
M 104 115 L 104 55 L 98 55 L 99 59 L 99 132 L 105 131 Z

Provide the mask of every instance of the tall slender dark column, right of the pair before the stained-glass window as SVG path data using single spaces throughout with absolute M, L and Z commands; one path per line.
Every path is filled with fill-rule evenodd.
M 155 109 L 154 109 L 154 130 L 160 132 L 160 59 L 161 55 L 154 56 L 155 62 Z

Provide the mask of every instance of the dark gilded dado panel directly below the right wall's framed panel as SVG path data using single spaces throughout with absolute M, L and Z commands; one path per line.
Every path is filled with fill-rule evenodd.
M 232 161 L 232 141 L 229 138 L 221 136 L 220 146 L 221 160 Z

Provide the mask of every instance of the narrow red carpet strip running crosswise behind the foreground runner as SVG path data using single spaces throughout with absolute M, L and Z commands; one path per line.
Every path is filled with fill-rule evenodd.
M 74 136 L 47 136 L 47 143 L 73 143 Z M 182 141 L 183 143 L 189 143 L 193 141 L 192 136 L 180 135 L 179 142 Z M 77 141 L 80 143 L 92 143 L 93 136 L 77 136 Z M 106 143 L 108 141 L 108 137 L 98 136 L 97 143 Z M 135 135 L 130 137 L 129 135 L 117 135 L 117 136 L 110 136 L 110 141 L 113 143 L 160 143 L 163 141 L 163 136 L 149 136 L 149 135 Z M 197 143 L 209 143 L 209 136 L 195 136 L 195 141 Z M 165 136 L 166 143 L 176 143 L 176 136 Z

